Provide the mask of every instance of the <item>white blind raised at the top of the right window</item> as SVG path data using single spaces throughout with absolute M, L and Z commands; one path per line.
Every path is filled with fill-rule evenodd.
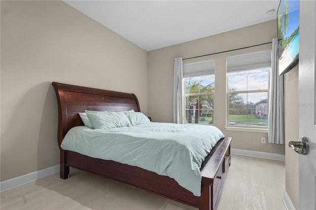
M 226 59 L 227 72 L 271 67 L 271 50 L 231 56 Z

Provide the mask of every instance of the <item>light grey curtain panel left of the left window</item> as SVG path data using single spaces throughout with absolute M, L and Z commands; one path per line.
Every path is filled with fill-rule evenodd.
M 182 58 L 174 59 L 174 85 L 173 85 L 173 122 L 184 123 L 183 107 L 183 62 Z

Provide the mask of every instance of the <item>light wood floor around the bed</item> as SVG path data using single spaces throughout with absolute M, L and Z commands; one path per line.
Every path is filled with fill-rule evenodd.
M 285 210 L 285 164 L 232 155 L 218 210 Z M 1 210 L 197 210 L 98 175 L 71 169 L 1 193 Z

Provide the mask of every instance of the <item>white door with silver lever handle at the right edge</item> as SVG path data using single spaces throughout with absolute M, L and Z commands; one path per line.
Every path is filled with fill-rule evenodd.
M 316 209 L 316 1 L 300 1 L 299 135 L 309 141 L 299 155 L 299 209 Z

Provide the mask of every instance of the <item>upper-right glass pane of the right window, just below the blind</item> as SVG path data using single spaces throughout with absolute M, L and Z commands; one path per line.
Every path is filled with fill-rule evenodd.
M 248 90 L 268 89 L 268 71 L 248 74 Z

